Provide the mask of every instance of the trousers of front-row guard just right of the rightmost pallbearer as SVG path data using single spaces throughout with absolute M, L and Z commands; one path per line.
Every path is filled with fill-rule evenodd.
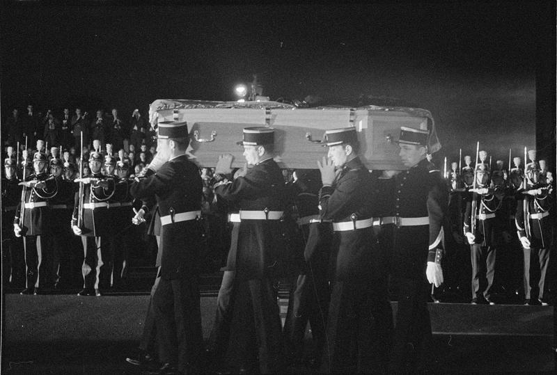
M 492 292 L 495 277 L 494 246 L 470 246 L 470 259 L 472 262 L 472 298 L 489 298 Z

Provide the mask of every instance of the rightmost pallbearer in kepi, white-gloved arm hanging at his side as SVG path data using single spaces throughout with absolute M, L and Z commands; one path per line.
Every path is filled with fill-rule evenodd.
M 425 341 L 432 335 L 427 282 L 435 287 L 443 282 L 442 223 L 448 191 L 441 175 L 427 168 L 428 136 L 426 130 L 400 128 L 399 155 L 409 169 L 395 177 L 391 274 L 398 287 L 398 310 L 390 372 L 416 371 Z

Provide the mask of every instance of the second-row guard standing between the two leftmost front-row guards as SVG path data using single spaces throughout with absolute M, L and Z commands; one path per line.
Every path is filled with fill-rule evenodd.
M 54 276 L 54 288 L 72 287 L 72 269 L 70 260 L 73 257 L 72 247 L 68 244 L 72 241 L 72 230 L 68 222 L 72 220 L 74 210 L 74 184 L 71 180 L 64 179 L 63 163 L 61 159 L 51 159 L 50 173 L 56 179 L 58 191 L 56 196 L 49 200 L 52 209 L 52 220 L 50 221 L 50 232 L 52 240 L 52 275 Z

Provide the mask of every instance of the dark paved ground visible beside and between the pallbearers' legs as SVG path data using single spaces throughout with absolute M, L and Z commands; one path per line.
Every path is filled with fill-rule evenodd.
M 3 296 L 2 373 L 136 374 L 149 296 Z M 207 338 L 216 298 L 202 297 Z M 288 301 L 279 301 L 284 313 Z M 393 310 L 396 310 L 393 303 Z M 550 372 L 554 308 L 431 303 L 432 372 Z M 284 315 L 284 314 L 283 314 Z

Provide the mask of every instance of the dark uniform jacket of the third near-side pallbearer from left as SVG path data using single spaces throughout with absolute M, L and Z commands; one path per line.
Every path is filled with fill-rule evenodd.
M 348 161 L 333 186 L 320 191 L 321 217 L 334 223 L 372 217 L 374 181 L 359 157 Z M 332 255 L 334 280 L 366 281 L 382 278 L 387 271 L 377 247 L 373 228 L 335 232 Z

